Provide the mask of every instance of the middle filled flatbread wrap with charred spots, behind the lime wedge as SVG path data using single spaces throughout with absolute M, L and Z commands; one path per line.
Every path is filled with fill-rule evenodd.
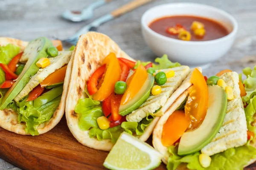
M 135 61 L 95 32 L 80 36 L 71 60 L 67 124 L 81 144 L 99 150 L 111 150 L 124 131 L 146 141 L 190 73 L 167 56 L 156 63 Z

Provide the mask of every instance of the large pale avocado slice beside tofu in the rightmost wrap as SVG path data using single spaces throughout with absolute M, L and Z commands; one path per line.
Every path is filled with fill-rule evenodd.
M 227 94 L 218 85 L 208 86 L 209 102 L 203 123 L 185 132 L 180 139 L 178 155 L 189 155 L 201 150 L 216 136 L 227 112 Z

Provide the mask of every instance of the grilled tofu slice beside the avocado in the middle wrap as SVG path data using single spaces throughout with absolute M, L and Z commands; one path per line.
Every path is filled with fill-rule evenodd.
M 163 107 L 169 97 L 174 93 L 174 91 L 180 86 L 183 80 L 189 74 L 188 66 L 180 66 L 175 68 L 164 69 L 160 71 L 175 71 L 175 76 L 167 79 L 164 85 L 161 85 L 162 92 L 156 96 L 150 95 L 149 98 L 132 113 L 126 116 L 128 122 L 140 122 L 143 118 L 147 116 L 148 113 L 153 114 L 158 109 Z

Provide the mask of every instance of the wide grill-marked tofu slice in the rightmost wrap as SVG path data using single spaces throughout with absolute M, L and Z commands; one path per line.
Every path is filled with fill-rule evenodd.
M 233 88 L 234 99 L 227 102 L 227 115 L 221 129 L 212 142 L 201 150 L 201 153 L 208 156 L 242 146 L 247 142 L 247 125 L 244 105 L 240 97 L 239 76 L 236 72 L 229 72 L 220 78 Z

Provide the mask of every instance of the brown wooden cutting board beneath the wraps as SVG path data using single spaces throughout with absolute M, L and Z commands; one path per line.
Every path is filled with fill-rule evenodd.
M 65 118 L 39 136 L 21 136 L 0 128 L 0 157 L 24 170 L 103 170 L 107 155 L 77 142 Z M 166 170 L 166 165 L 162 163 L 157 170 Z M 246 170 L 256 170 L 256 163 Z

